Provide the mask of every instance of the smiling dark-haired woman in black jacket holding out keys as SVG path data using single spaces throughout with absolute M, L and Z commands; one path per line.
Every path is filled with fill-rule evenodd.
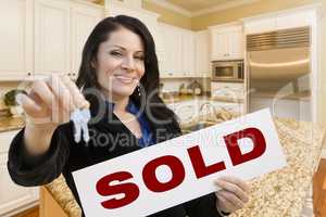
M 180 128 L 158 95 L 154 41 L 137 18 L 106 17 L 95 27 L 76 85 L 52 76 L 17 97 L 28 118 L 12 141 L 8 168 L 16 183 L 27 187 L 49 183 L 62 173 L 80 205 L 72 171 L 177 137 Z M 89 105 L 90 140 L 77 143 L 70 116 Z M 246 182 L 225 177 L 216 183 L 222 190 L 215 194 L 152 216 L 222 216 L 248 201 Z

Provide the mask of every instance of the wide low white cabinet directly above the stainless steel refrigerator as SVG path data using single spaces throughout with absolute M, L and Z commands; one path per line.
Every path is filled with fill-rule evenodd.
M 244 33 L 258 34 L 264 31 L 296 28 L 311 25 L 314 18 L 313 11 L 296 11 L 273 15 L 244 18 Z

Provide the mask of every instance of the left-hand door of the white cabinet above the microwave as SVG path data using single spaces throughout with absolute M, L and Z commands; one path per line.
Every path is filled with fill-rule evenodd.
M 228 56 L 227 33 L 212 33 L 212 61 L 225 60 Z

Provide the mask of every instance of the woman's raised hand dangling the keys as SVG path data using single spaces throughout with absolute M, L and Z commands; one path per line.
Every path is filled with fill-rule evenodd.
M 42 128 L 68 122 L 74 110 L 88 104 L 70 77 L 58 75 L 34 81 L 29 93 L 16 99 L 26 114 L 26 125 Z

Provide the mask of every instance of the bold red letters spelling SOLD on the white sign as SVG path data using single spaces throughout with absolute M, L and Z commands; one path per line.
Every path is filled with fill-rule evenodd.
M 253 149 L 242 154 L 238 140 L 249 138 L 253 143 Z M 228 151 L 228 155 L 234 166 L 249 162 L 260 157 L 266 150 L 266 142 L 263 133 L 258 128 L 247 128 L 237 132 L 233 132 L 224 137 L 224 142 Z M 210 176 L 212 174 L 226 169 L 223 161 L 212 165 L 205 165 L 199 145 L 187 149 L 188 156 L 192 164 L 196 178 Z M 166 165 L 170 167 L 172 178 L 167 182 L 160 182 L 155 176 L 158 167 Z M 163 155 L 148 162 L 142 168 L 142 180 L 148 190 L 152 192 L 170 191 L 181 184 L 185 179 L 185 167 L 183 162 L 174 155 Z M 96 184 L 97 192 L 102 196 L 124 194 L 122 199 L 110 199 L 103 201 L 101 205 L 106 209 L 121 208 L 126 206 L 139 196 L 139 188 L 134 182 L 124 182 L 118 184 L 110 184 L 116 181 L 131 180 L 133 174 L 129 171 L 117 171 L 102 177 Z

